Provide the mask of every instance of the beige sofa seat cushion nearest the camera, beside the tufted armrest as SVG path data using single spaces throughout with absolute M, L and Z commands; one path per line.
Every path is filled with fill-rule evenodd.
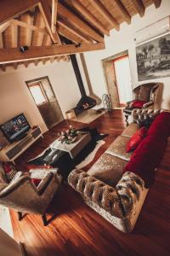
M 126 160 L 122 160 L 111 154 L 102 154 L 94 166 L 88 170 L 88 175 L 115 187 L 122 177 L 122 171 L 126 164 Z

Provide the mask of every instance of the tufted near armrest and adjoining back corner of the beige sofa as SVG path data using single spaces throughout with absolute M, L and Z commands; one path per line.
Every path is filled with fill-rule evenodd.
M 131 232 L 139 216 L 148 189 L 137 175 L 126 172 L 116 189 L 90 177 L 87 172 L 74 170 L 68 177 L 73 189 L 82 195 L 94 211 L 123 232 Z

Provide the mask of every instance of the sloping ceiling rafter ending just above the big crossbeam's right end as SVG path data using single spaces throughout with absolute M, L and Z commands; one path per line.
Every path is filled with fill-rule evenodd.
M 71 4 L 84 16 L 85 19 L 87 19 L 93 26 L 97 27 L 99 29 L 99 32 L 102 34 L 105 34 L 107 36 L 110 35 L 110 32 L 105 26 L 103 26 L 99 20 L 95 18 L 94 15 L 92 15 L 87 8 L 85 8 L 82 3 L 71 0 Z

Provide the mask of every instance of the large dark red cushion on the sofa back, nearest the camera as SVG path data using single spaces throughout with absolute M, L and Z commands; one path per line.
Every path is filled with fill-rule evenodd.
M 146 187 L 154 181 L 155 168 L 159 166 L 167 147 L 167 140 L 156 140 L 156 137 L 147 136 L 134 151 L 124 172 L 133 172 L 144 179 Z

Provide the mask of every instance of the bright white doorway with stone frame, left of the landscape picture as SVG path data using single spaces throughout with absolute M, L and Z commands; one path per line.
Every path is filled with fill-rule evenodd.
M 105 80 L 112 108 L 120 108 L 133 99 L 132 79 L 127 51 L 103 60 Z

